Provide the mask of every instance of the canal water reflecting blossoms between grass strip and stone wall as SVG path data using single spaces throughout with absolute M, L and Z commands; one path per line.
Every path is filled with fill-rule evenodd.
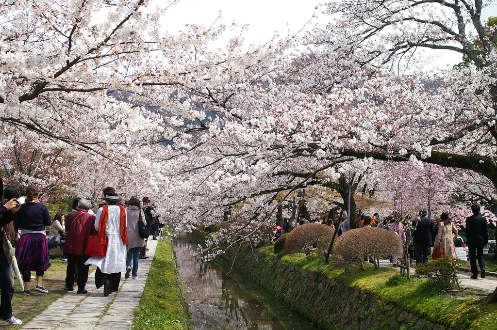
M 191 256 L 185 237 L 174 240 L 174 251 L 193 329 L 319 329 L 229 265 Z

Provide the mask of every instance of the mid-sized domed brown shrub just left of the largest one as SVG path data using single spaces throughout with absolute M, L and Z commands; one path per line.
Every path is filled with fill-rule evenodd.
M 306 223 L 298 226 L 285 240 L 285 253 L 305 253 L 307 257 L 323 237 L 333 236 L 334 229 L 322 223 Z

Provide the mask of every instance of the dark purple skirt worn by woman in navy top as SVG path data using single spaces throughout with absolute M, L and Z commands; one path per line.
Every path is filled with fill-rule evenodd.
M 19 269 L 47 270 L 50 267 L 47 237 L 36 233 L 21 235 L 15 249 L 15 258 Z

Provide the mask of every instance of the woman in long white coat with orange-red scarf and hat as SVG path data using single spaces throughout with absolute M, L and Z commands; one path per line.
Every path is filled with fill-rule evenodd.
M 126 246 L 128 234 L 126 232 L 126 209 L 118 205 L 119 198 L 114 192 L 106 193 L 105 204 L 96 212 L 95 229 L 98 231 L 99 241 L 107 245 L 105 256 L 93 256 L 85 264 L 97 266 L 95 285 L 103 285 L 103 295 L 117 291 L 121 281 L 121 272 L 126 270 Z

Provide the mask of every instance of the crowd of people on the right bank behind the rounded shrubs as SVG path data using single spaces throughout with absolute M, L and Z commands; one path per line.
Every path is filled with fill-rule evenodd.
M 466 244 L 469 249 L 469 259 L 471 264 L 471 278 L 478 278 L 478 265 L 480 266 L 480 276 L 485 277 L 485 260 L 483 249 L 488 247 L 488 227 L 487 219 L 480 214 L 480 205 L 471 206 L 472 215 L 466 219 Z M 380 217 L 378 213 L 372 216 L 358 214 L 360 227 L 377 227 L 393 231 L 404 246 L 404 254 L 409 256 L 410 264 L 427 264 L 428 257 L 432 251 L 439 250 L 441 256 L 458 258 L 454 242 L 458 238 L 458 230 L 452 222 L 448 212 L 442 212 L 439 217 L 431 219 L 427 217 L 426 209 L 419 210 L 419 217 L 413 218 L 409 214 L 402 216 L 399 212 Z M 290 219 L 283 219 L 275 222 L 273 230 L 273 240 L 277 240 L 282 233 L 290 231 Z M 316 217 L 309 221 L 303 214 L 299 214 L 297 225 L 302 226 L 310 222 L 322 223 L 337 228 L 337 235 L 343 235 L 349 228 L 347 218 L 340 216 L 335 219 L 327 217 Z M 391 262 L 394 267 L 398 267 L 398 260 L 403 256 L 392 256 Z

